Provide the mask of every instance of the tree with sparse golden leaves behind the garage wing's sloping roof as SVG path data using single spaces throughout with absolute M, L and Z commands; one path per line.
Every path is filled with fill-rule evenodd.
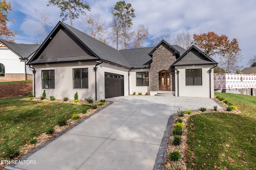
M 104 28 L 105 22 L 101 20 L 100 14 L 90 14 L 82 17 L 82 21 L 79 22 L 79 25 L 84 33 L 106 43 L 106 39 L 103 39 L 106 34 Z

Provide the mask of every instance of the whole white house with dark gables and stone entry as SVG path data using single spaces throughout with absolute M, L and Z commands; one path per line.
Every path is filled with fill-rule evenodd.
M 59 22 L 28 61 L 36 97 L 100 100 L 133 92 L 213 98 L 217 63 L 195 46 L 162 40 L 156 47 L 116 50 Z

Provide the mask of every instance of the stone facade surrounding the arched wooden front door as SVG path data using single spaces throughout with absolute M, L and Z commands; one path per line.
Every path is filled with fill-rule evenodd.
M 174 50 L 168 45 L 162 44 L 154 51 L 152 56 L 152 63 L 150 64 L 150 90 L 160 90 L 159 72 L 162 70 L 168 70 L 171 72 L 171 91 L 175 91 L 175 70 L 171 68 L 171 65 L 176 61 Z

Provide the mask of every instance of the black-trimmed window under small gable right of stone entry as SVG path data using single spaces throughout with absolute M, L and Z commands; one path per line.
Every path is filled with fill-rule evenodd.
M 202 86 L 202 68 L 186 69 L 186 86 Z

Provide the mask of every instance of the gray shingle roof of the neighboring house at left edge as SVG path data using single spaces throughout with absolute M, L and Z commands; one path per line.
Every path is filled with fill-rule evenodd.
M 8 41 L 4 41 L 3 39 L 0 39 L 0 41 L 2 43 L 4 43 L 5 45 L 7 45 L 15 53 L 20 55 L 20 57 L 22 57 L 22 58 L 28 58 L 31 54 L 33 54 L 40 47 L 40 45 L 35 45 L 35 44 L 11 43 Z

